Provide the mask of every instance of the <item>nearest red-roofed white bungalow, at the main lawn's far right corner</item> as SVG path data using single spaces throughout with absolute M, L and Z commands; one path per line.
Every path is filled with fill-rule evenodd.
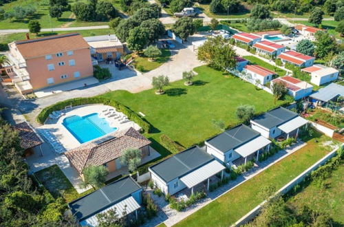
M 271 86 L 274 83 L 283 83 L 284 85 L 286 85 L 286 87 L 288 88 L 288 94 L 294 97 L 295 100 L 299 100 L 312 94 L 312 85 L 291 76 L 275 78 L 275 80 L 271 81 Z

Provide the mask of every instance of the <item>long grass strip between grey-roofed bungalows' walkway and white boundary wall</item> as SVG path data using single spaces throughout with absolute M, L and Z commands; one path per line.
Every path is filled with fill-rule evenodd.
M 235 223 L 262 202 L 259 191 L 263 186 L 281 188 L 330 151 L 329 148 L 321 146 L 323 142 L 331 140 L 330 138 L 319 133 L 314 136 L 315 138 L 309 140 L 299 151 L 215 199 L 175 226 L 230 226 Z

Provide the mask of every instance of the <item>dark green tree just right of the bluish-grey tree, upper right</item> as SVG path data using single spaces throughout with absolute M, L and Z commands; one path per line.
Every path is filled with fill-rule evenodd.
M 318 31 L 314 34 L 316 41 L 316 47 L 314 55 L 318 58 L 324 58 L 330 52 L 337 51 L 336 40 L 330 36 L 327 32 Z

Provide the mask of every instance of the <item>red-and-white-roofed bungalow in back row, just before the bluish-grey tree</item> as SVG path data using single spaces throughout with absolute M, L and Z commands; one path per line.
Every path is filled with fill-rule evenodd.
M 315 58 L 299 52 L 289 50 L 279 54 L 278 58 L 281 58 L 283 64 L 290 63 L 299 67 L 310 67 L 313 65 Z

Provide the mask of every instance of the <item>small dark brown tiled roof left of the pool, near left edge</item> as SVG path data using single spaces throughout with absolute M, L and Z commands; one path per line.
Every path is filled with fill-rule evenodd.
M 22 149 L 36 147 L 43 143 L 27 122 L 13 125 L 13 128 L 19 132 L 19 137 L 21 138 L 20 146 Z

